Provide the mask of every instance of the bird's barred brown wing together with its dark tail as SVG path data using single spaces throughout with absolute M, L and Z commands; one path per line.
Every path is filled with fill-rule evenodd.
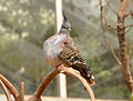
M 90 74 L 89 68 L 85 64 L 85 61 L 80 57 L 76 47 L 73 47 L 72 42 L 64 42 L 63 49 L 59 54 L 59 58 L 66 64 L 68 67 L 72 67 L 73 69 L 80 71 L 81 75 L 86 79 L 86 81 L 92 85 L 94 84 L 94 77 Z

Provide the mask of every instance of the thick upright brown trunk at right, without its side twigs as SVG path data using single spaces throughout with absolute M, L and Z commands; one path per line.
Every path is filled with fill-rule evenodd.
M 133 80 L 132 80 L 132 74 L 131 74 L 131 69 L 130 69 L 130 63 L 129 63 L 129 54 L 126 50 L 126 41 L 125 41 L 125 26 L 124 26 L 124 20 L 125 20 L 125 11 L 127 7 L 127 0 L 121 0 L 120 3 L 120 11 L 117 14 L 117 38 L 119 38 L 119 44 L 120 44 L 120 58 L 122 62 L 122 72 L 124 77 L 124 81 L 133 94 Z

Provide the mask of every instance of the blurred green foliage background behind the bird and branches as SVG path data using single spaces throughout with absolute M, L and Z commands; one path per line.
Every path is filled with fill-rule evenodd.
M 110 0 L 119 10 L 120 0 Z M 0 0 L 0 72 L 19 88 L 25 82 L 25 94 L 32 94 L 43 78 L 53 69 L 47 65 L 42 55 L 42 46 L 47 38 L 54 34 L 53 0 Z M 113 24 L 116 16 L 104 2 L 106 18 Z M 133 9 L 133 0 L 129 8 Z M 93 85 L 99 99 L 129 99 L 130 92 L 124 83 L 121 68 L 112 57 L 100 27 L 99 0 L 63 0 L 63 11 L 72 24 L 71 37 L 80 47 L 81 55 L 86 60 L 95 75 Z M 132 18 L 125 20 L 126 24 Z M 126 34 L 127 48 L 133 65 L 133 29 Z M 108 39 L 119 55 L 116 32 L 106 28 Z M 133 72 L 133 69 L 132 69 Z M 69 98 L 89 98 L 82 84 L 68 77 Z M 57 97 L 57 78 L 43 92 L 47 97 Z M 0 88 L 0 93 L 3 93 Z

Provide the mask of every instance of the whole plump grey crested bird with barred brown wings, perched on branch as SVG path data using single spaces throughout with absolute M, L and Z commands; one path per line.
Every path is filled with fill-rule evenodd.
M 43 43 L 44 61 L 55 68 L 60 65 L 71 67 L 78 70 L 90 85 L 93 85 L 94 75 L 89 73 L 86 62 L 81 58 L 79 47 L 70 36 L 71 24 L 63 13 L 63 23 L 59 32 L 48 38 Z

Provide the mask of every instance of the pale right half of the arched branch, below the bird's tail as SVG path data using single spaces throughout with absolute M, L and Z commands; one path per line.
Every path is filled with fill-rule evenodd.
M 65 73 L 68 75 L 72 75 L 72 77 L 76 78 L 78 80 L 80 80 L 80 82 L 86 89 L 86 91 L 91 98 L 91 101 L 95 101 L 94 93 L 93 93 L 92 89 L 90 88 L 89 83 L 86 82 L 86 80 L 83 77 L 81 77 L 81 74 L 76 73 L 76 70 L 73 70 L 72 68 L 62 68 L 61 72 Z

